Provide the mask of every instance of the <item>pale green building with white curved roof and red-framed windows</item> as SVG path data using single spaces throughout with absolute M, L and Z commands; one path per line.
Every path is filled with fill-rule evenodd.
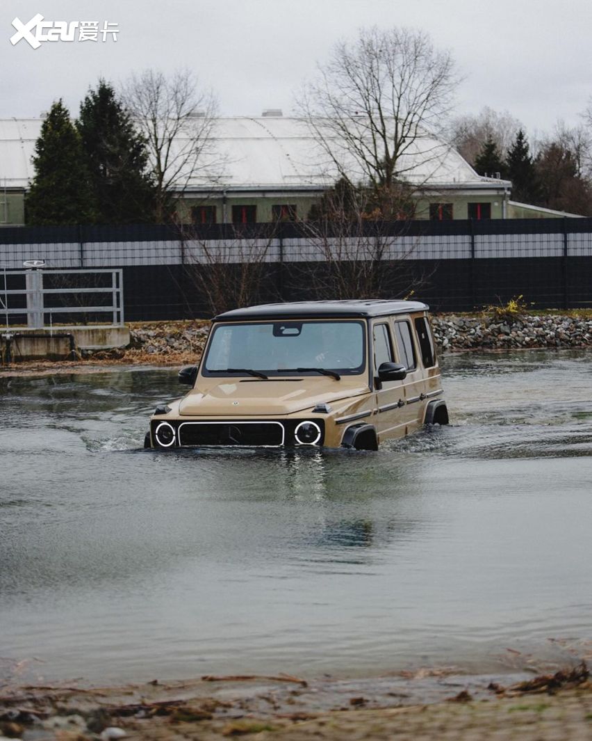
M 199 124 L 195 116 L 195 125 Z M 42 119 L 0 121 L 0 225 L 24 225 L 24 194 L 34 176 Z M 192 119 L 178 137 L 188 146 Z M 208 161 L 178 184 L 178 216 L 198 224 L 306 219 L 338 173 L 302 119 L 280 110 L 260 117 L 216 119 Z M 443 142 L 423 136 L 406 154 L 406 180 L 417 198 L 416 219 L 509 219 L 572 216 L 510 200 L 511 182 L 477 175 Z M 361 179 L 352 163 L 352 182 Z

